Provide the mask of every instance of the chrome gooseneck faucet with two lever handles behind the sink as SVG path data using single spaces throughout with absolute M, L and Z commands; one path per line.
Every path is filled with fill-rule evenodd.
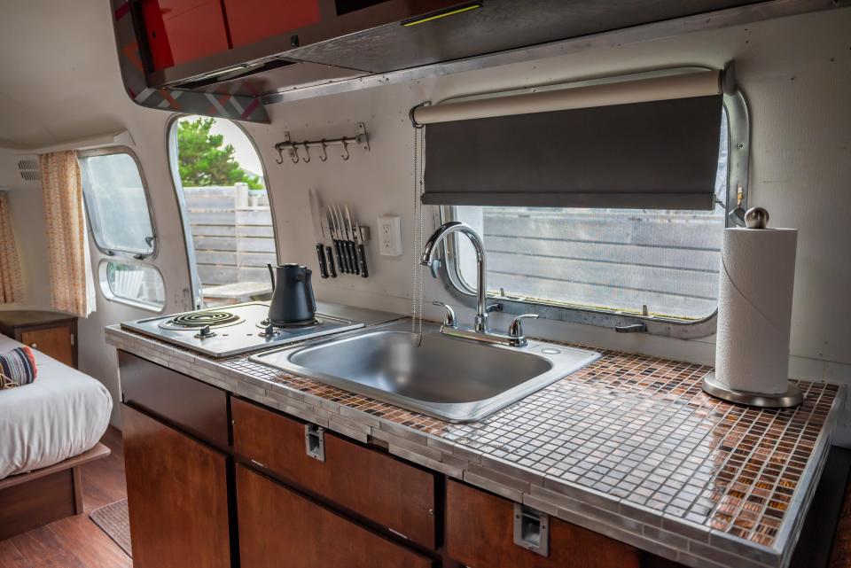
M 434 262 L 434 254 L 437 250 L 437 245 L 441 241 L 453 233 L 465 234 L 472 243 L 472 247 L 476 252 L 476 317 L 472 329 L 464 328 L 458 325 L 455 312 L 452 307 L 442 303 L 434 302 L 435 306 L 442 306 L 446 310 L 446 315 L 443 318 L 441 325 L 441 333 L 460 338 L 477 339 L 479 341 L 487 341 L 488 343 L 499 343 L 510 346 L 525 346 L 527 339 L 523 335 L 523 327 L 520 324 L 526 318 L 536 318 L 537 314 L 518 315 L 511 322 L 509 332 L 499 333 L 488 329 L 488 313 L 494 310 L 502 309 L 500 305 L 488 307 L 488 276 L 487 276 L 487 258 L 485 255 L 485 245 L 481 241 L 481 237 L 476 231 L 472 230 L 470 225 L 460 221 L 449 221 L 443 223 L 435 230 L 431 237 L 428 237 L 426 246 L 423 248 L 423 253 L 420 256 L 419 263 L 423 266 L 430 267 Z

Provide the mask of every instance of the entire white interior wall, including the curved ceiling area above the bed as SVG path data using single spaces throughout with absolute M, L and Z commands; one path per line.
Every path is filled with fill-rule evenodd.
M 38 4 L 43 5 L 38 8 Z M 9 66 L 7 58 L 0 58 L 0 72 L 15 79 L 0 85 L 0 146 L 4 145 L 4 138 L 18 144 L 53 144 L 128 129 L 137 143 L 135 150 L 144 167 L 160 243 L 164 244 L 157 262 L 163 266 L 167 279 L 167 309 L 176 311 L 176 295 L 182 293 L 188 275 L 179 250 L 182 235 L 168 171 L 169 114 L 133 105 L 122 92 L 110 15 L 103 3 L 71 4 L 12 0 L 4 6 L 6 20 L 14 20 L 10 29 L 22 31 L 0 38 L 0 48 L 7 42 L 34 44 L 29 36 L 32 30 L 45 26 L 43 20 L 35 21 L 40 9 L 50 9 L 56 21 L 55 26 L 45 30 L 55 43 L 45 43 L 43 48 L 36 45 L 33 51 L 27 49 L 27 55 L 39 61 L 39 66 L 21 72 Z M 410 106 L 423 100 L 440 101 L 474 92 L 643 68 L 722 66 L 736 59 L 738 82 L 748 98 L 753 122 L 751 203 L 769 208 L 774 226 L 800 230 L 792 376 L 851 381 L 851 332 L 846 324 L 851 316 L 847 292 L 851 286 L 851 265 L 847 261 L 851 237 L 846 229 L 846 212 L 851 206 L 848 29 L 851 9 L 834 10 L 272 105 L 271 125 L 246 124 L 246 130 L 262 152 L 267 168 L 276 209 L 279 257 L 282 261 L 316 264 L 308 208 L 311 186 L 326 201 L 354 205 L 359 219 L 373 230 L 379 215 L 399 214 L 405 238 L 402 257 L 381 257 L 377 246 L 371 243 L 370 278 L 316 278 L 315 285 L 321 300 L 408 312 L 413 267 Z M 87 41 L 81 42 L 81 37 Z M 57 51 L 57 44 L 66 49 Z M 58 83 L 66 89 L 56 89 Z M 23 84 L 32 89 L 27 97 L 5 88 Z M 15 103 L 26 103 L 15 107 L 20 110 L 14 120 L 10 118 L 15 115 L 14 110 L 9 110 L 10 97 L 16 97 Z M 275 163 L 277 152 L 272 145 L 283 139 L 285 130 L 296 140 L 350 136 L 359 121 L 367 124 L 371 152 L 353 148 L 348 161 L 332 155 L 327 162 Z M 12 188 L 14 223 L 27 279 L 27 305 L 47 308 L 50 289 L 43 262 L 40 191 L 16 186 L 17 172 L 8 158 L 7 152 L 0 152 L 0 186 Z M 426 214 L 426 230 L 432 227 L 432 216 Z M 442 284 L 430 277 L 426 277 L 426 299 L 452 300 Z M 441 316 L 427 302 L 426 308 L 426 315 L 434 319 Z M 463 309 L 459 315 L 470 318 L 472 311 Z M 104 381 L 113 396 L 118 393 L 117 368 L 113 350 L 103 342 L 103 326 L 142 316 L 98 297 L 98 312 L 81 323 L 82 370 Z M 497 325 L 504 323 L 504 318 L 496 318 Z M 712 363 L 714 359 L 712 338 L 682 341 L 620 335 L 595 327 L 543 321 L 527 323 L 527 331 L 688 361 Z

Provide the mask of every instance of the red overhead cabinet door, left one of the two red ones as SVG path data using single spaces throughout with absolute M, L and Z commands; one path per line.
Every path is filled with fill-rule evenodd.
M 220 0 L 142 0 L 153 70 L 228 51 Z

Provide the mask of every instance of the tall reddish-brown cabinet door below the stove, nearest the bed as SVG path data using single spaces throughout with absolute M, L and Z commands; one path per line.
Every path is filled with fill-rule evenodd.
M 134 568 L 230 568 L 226 456 L 123 406 Z

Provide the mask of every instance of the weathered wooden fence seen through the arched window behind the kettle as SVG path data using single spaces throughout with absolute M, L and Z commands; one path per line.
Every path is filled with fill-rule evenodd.
M 276 263 L 269 202 L 263 191 L 267 205 L 250 206 L 247 194 L 243 184 L 183 188 L 204 286 L 269 280 L 266 264 Z

